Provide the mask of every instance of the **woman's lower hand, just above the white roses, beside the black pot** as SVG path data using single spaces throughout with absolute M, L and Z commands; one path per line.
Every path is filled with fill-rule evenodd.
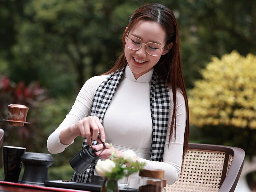
M 122 151 L 117 151 L 113 146 L 110 147 L 109 143 L 105 143 L 105 145 L 106 148 L 104 150 L 103 144 L 93 145 L 91 147 L 97 151 L 95 155 L 99 156 L 102 159 L 108 159 L 111 156 L 111 153 L 113 153 L 114 151 L 116 152 L 116 157 L 123 157 Z

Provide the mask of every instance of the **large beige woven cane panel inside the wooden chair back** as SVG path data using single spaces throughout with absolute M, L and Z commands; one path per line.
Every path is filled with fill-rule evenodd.
M 224 152 L 189 149 L 182 163 L 179 180 L 167 185 L 166 191 L 218 191 L 224 159 Z

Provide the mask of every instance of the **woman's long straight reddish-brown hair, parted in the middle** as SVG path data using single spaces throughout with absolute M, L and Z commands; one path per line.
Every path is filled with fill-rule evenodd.
M 162 76 L 167 85 L 172 87 L 173 93 L 173 113 L 172 113 L 172 122 L 171 122 L 171 134 L 169 137 L 169 142 L 171 140 L 172 133 L 176 133 L 176 91 L 177 88 L 180 88 L 182 94 L 185 98 L 186 105 L 186 129 L 184 135 L 184 148 L 183 155 L 188 149 L 188 137 L 189 137 L 189 111 L 188 111 L 188 97 L 185 89 L 185 83 L 182 75 L 182 66 L 181 66 L 181 56 L 180 56 L 180 40 L 178 32 L 178 24 L 173 12 L 161 4 L 147 4 L 139 9 L 137 9 L 131 16 L 129 24 L 127 26 L 126 32 L 122 36 L 123 41 L 123 52 L 116 61 L 115 65 L 105 74 L 110 74 L 117 69 L 123 68 L 126 64 L 126 58 L 124 55 L 124 46 L 125 46 L 125 37 L 127 32 L 132 29 L 132 27 L 139 20 L 154 21 L 158 23 L 166 33 L 166 43 L 165 47 L 169 43 L 173 43 L 172 48 L 168 53 L 162 55 L 154 66 L 154 70 L 158 75 Z M 176 135 L 176 134 L 175 134 Z

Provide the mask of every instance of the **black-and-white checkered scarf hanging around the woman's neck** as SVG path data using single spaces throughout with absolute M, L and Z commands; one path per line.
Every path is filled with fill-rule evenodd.
M 116 72 L 108 75 L 108 77 L 100 84 L 95 92 L 91 116 L 97 116 L 102 123 L 104 114 L 108 109 L 117 86 L 123 76 L 124 69 L 117 70 Z M 166 130 L 168 124 L 170 96 L 164 82 L 158 79 L 155 71 L 152 75 L 150 87 L 150 109 L 153 124 L 152 143 L 150 150 L 150 160 L 162 161 L 164 153 L 164 142 L 166 138 Z M 93 140 L 92 145 L 96 145 L 97 141 Z M 87 145 L 84 138 L 82 148 Z M 91 165 L 84 173 L 75 172 L 72 181 L 87 183 L 89 182 L 90 175 L 94 174 L 94 165 Z

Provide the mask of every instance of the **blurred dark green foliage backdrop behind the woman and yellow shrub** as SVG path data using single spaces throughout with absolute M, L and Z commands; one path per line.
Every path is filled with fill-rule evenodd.
M 15 90 L 19 82 L 39 82 L 47 90 L 47 99 L 38 99 L 39 94 L 33 102 L 20 103 L 29 106 L 31 125 L 1 123 L 4 145 L 48 153 L 47 137 L 68 113 L 84 82 L 105 72 L 119 56 L 129 15 L 153 2 L 169 7 L 178 20 L 188 90 L 202 78 L 199 71 L 212 55 L 220 58 L 234 49 L 244 56 L 256 54 L 256 1 L 0 0 L 1 79 L 8 76 Z M 3 119 L 7 105 L 19 100 L 7 97 L 1 85 L 0 90 Z M 193 141 L 196 130 L 191 130 Z M 63 153 L 54 154 L 52 167 L 68 164 L 81 144 L 82 138 L 77 138 Z

